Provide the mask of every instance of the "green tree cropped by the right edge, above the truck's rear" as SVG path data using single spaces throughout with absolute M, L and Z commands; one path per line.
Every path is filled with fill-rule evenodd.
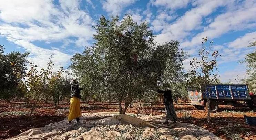
M 256 46 L 256 41 L 251 42 L 249 47 Z M 247 78 L 242 79 L 242 81 L 249 86 L 249 90 L 256 93 L 256 50 L 252 53 L 246 54 L 245 60 L 242 63 L 246 63 L 247 67 Z

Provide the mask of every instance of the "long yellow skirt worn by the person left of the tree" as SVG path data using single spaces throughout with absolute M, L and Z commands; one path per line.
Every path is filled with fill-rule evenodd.
M 68 121 L 79 118 L 80 115 L 80 100 L 77 97 L 72 97 L 70 99 Z

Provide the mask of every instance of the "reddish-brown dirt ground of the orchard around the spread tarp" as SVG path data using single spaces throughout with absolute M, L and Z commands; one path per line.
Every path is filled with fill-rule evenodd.
M 82 113 L 118 111 L 116 102 L 82 102 L 80 106 Z M 134 103 L 127 112 L 137 113 L 138 106 L 139 103 Z M 221 105 L 219 112 L 211 113 L 212 124 L 208 124 L 206 111 L 195 110 L 189 102 L 180 101 L 174 106 L 180 121 L 203 127 L 218 137 L 228 140 L 256 140 L 256 127 L 245 124 L 244 120 L 244 115 L 256 116 L 249 108 Z M 30 108 L 25 107 L 24 102 L 0 102 L 0 140 L 16 136 L 30 128 L 44 127 L 51 122 L 62 121 L 68 115 L 68 107 L 67 102 L 60 103 L 59 107 L 55 107 L 53 103 L 39 103 L 32 119 L 28 121 Z M 163 114 L 163 104 L 156 103 L 152 113 Z M 151 114 L 151 108 L 142 105 L 140 114 Z

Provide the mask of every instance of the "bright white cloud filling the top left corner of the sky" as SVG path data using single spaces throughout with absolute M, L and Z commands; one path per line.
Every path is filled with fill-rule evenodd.
M 0 19 L 6 22 L 30 22 L 49 20 L 51 14 L 58 14 L 53 0 L 1 0 Z

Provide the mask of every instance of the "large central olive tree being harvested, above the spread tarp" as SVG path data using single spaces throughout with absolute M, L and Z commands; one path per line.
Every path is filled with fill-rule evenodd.
M 122 21 L 118 16 L 111 20 L 102 16 L 95 29 L 94 46 L 75 54 L 70 68 L 87 95 L 117 101 L 120 114 L 142 94 L 165 88 L 164 83 L 173 81 L 181 70 L 179 43 L 155 45 L 146 22 L 138 24 L 130 15 Z

